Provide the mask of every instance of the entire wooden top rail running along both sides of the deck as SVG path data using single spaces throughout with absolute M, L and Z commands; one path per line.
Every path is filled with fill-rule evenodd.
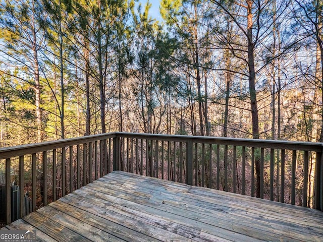
M 261 139 L 240 139 L 224 137 L 207 137 L 207 136 L 186 136 L 186 135 L 163 135 L 163 134 L 139 134 L 113 132 L 107 134 L 91 135 L 65 140 L 48 141 L 42 143 L 19 145 L 14 147 L 0 148 L 0 159 L 7 159 L 20 155 L 33 154 L 46 150 L 59 149 L 71 145 L 78 145 L 98 140 L 104 140 L 114 137 L 147 139 L 147 140 L 164 140 L 176 142 L 206 143 L 219 145 L 235 145 L 256 148 L 287 149 L 287 150 L 304 150 L 322 152 L 323 143 L 283 141 L 283 140 L 261 140 Z

